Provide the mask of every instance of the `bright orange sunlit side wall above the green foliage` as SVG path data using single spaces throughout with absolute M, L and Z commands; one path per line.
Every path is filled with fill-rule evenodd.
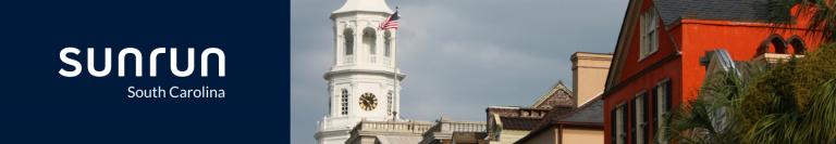
M 686 34 L 683 35 L 683 61 L 687 62 L 683 63 L 683 89 L 688 100 L 694 99 L 705 77 L 705 67 L 699 64 L 699 60 L 705 56 L 706 51 L 722 48 L 735 61 L 749 61 L 758 56 L 762 42 L 773 35 L 785 41 L 790 37 L 800 37 L 807 51 L 814 51 L 820 43 L 819 38 L 807 35 L 806 29 L 773 29 L 763 23 L 683 19 L 681 27 Z M 788 52 L 794 53 L 791 45 L 787 47 Z M 774 52 L 774 49 L 770 51 Z

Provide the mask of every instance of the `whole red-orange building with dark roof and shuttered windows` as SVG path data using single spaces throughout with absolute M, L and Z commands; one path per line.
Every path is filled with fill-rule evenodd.
M 602 99 L 605 143 L 652 143 L 661 117 L 693 100 L 701 57 L 725 49 L 734 61 L 803 54 L 817 37 L 773 28 L 772 0 L 630 0 Z M 664 143 L 664 142 L 662 142 Z

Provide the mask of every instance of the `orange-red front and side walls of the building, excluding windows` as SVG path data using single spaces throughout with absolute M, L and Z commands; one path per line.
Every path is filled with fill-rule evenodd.
M 650 2 L 649 0 L 643 1 L 644 5 L 649 5 L 647 4 Z M 640 6 L 640 9 L 644 11 L 648 6 Z M 795 53 L 792 45 L 788 43 L 790 37 L 800 38 L 807 51 L 814 51 L 820 44 L 820 39 L 815 35 L 806 32 L 807 29 L 801 25 L 806 24 L 807 18 L 800 17 L 797 23 L 799 25 L 783 29 L 773 28 L 767 23 L 684 18 L 671 27 L 657 30 L 660 35 L 659 51 L 643 60 L 639 60 L 641 34 L 639 26 L 641 25 L 632 24 L 635 30 L 629 36 L 628 43 L 624 43 L 627 44 L 624 48 L 624 55 L 622 55 L 625 57 L 613 58 L 614 61 L 623 61 L 620 67 L 613 67 L 620 68 L 620 71 L 615 76 L 610 76 L 616 77 L 616 87 L 608 88 L 607 95 L 604 95 L 605 143 L 613 141 L 611 140 L 613 127 L 611 126 L 610 112 L 615 109 L 617 105 L 629 103 L 640 92 L 651 91 L 657 82 L 664 79 L 672 81 L 672 103 L 674 106 L 684 101 L 696 99 L 705 77 L 705 67 L 700 65 L 700 57 L 705 56 L 708 51 L 722 48 L 726 49 L 735 61 L 749 61 L 759 55 L 759 48 L 772 37 L 787 42 L 785 43 L 788 48 L 787 53 Z M 769 51 L 775 52 L 771 45 Z M 673 60 L 663 61 L 665 57 L 677 53 L 679 55 L 673 56 Z M 655 102 L 649 103 L 654 104 Z M 653 109 L 647 110 L 646 113 L 652 114 Z M 649 126 L 655 126 L 652 120 L 649 121 L 651 122 Z M 627 123 L 631 122 L 632 119 L 627 120 Z M 651 127 L 650 129 L 653 131 L 654 128 Z M 649 136 L 651 135 L 649 134 Z M 628 136 L 627 142 L 631 141 L 629 139 Z

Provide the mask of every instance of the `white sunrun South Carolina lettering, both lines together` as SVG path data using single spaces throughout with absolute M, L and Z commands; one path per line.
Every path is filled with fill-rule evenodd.
M 149 76 L 150 77 L 157 77 L 157 56 L 160 54 L 169 53 L 169 64 L 171 74 L 173 74 L 176 77 L 189 77 L 192 76 L 192 73 L 195 71 L 195 49 L 188 48 L 188 64 L 185 70 L 182 70 L 177 67 L 177 49 L 176 48 L 157 48 L 151 50 L 151 53 L 148 55 L 149 61 Z M 64 49 L 61 49 L 61 52 L 59 53 L 59 58 L 64 64 L 72 66 L 73 70 L 67 70 L 64 68 L 61 68 L 58 70 L 58 74 L 63 77 L 77 77 L 82 74 L 82 71 L 85 69 L 81 62 L 71 58 L 69 55 L 73 55 L 72 57 L 76 57 L 81 54 L 82 51 L 77 48 L 67 47 Z M 87 48 L 87 71 L 90 74 L 90 76 L 94 77 L 107 77 L 111 71 L 111 49 L 104 48 L 104 68 L 102 69 L 96 69 L 96 49 L 94 48 Z M 144 63 L 144 56 L 143 52 L 137 50 L 136 48 L 125 48 L 119 51 L 118 54 L 118 76 L 119 77 L 125 77 L 125 57 L 127 55 L 132 55 L 134 57 L 134 63 L 136 67 L 134 70 L 136 74 L 134 76 L 136 77 L 143 77 L 143 63 Z M 213 57 L 218 58 L 218 77 L 225 77 L 226 76 L 226 56 L 224 55 L 223 51 L 218 48 L 207 48 L 204 49 L 202 52 L 200 52 L 200 77 L 209 77 L 209 57 L 210 55 L 214 55 Z M 102 57 L 100 57 L 102 58 Z M 98 60 L 101 61 L 101 60 Z M 164 60 L 163 60 L 164 61 Z M 101 62 L 99 62 L 101 63 Z M 125 90 L 127 92 L 127 99 L 132 100 L 148 100 L 148 99 L 224 99 L 226 97 L 226 92 L 223 89 L 212 89 L 208 86 L 186 86 L 186 87 L 179 87 L 179 86 L 171 86 L 168 89 L 164 89 L 160 87 L 162 83 L 158 83 L 156 86 L 146 86 L 143 87 L 134 87 L 128 86 Z

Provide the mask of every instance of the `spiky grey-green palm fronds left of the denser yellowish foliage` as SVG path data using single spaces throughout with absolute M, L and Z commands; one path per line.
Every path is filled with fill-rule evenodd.
M 746 82 L 737 74 L 716 73 L 709 77 L 697 100 L 680 105 L 666 116 L 671 121 L 663 132 L 666 139 L 688 144 L 739 143 L 732 115 L 735 100 L 745 93 Z

